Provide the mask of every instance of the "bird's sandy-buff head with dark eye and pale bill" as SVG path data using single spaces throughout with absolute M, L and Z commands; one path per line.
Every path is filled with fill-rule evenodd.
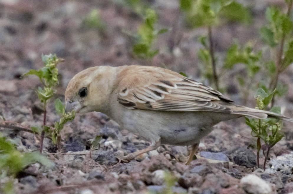
M 91 67 L 76 74 L 65 91 L 66 112 L 103 112 L 108 106 L 113 76 L 116 76 L 115 68 L 110 66 Z

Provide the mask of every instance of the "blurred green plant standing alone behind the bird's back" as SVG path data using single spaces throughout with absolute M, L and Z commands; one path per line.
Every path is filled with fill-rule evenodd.
M 158 21 L 156 12 L 152 9 L 146 9 L 144 23 L 137 29 L 135 35 L 135 44 L 132 47 L 133 53 L 140 58 L 152 58 L 159 53 L 159 50 L 153 50 L 152 44 L 159 34 L 167 32 L 167 29 L 157 31 L 154 25 Z

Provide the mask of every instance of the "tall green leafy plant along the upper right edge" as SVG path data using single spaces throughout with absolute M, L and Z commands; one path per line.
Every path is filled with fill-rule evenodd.
M 275 54 L 275 60 L 267 61 L 267 68 L 271 74 L 270 84 L 267 90 L 278 89 L 279 75 L 293 63 L 293 23 L 290 18 L 293 0 L 285 0 L 287 13 L 284 14 L 279 8 L 269 7 L 266 9 L 268 24 L 260 29 L 260 35 Z M 278 94 L 278 93 L 276 93 Z M 272 106 L 274 105 L 274 97 Z

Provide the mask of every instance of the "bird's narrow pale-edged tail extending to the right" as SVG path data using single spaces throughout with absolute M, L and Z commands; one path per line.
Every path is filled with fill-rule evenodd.
M 264 111 L 264 110 L 254 109 L 254 108 L 248 108 L 248 107 L 245 107 L 245 106 L 236 106 L 233 109 L 232 114 L 251 116 L 251 117 L 254 117 L 254 118 L 261 118 L 261 119 L 267 118 L 267 117 L 279 118 L 279 119 L 282 119 L 284 121 L 289 121 L 289 122 L 293 123 L 292 118 L 289 118 L 289 117 L 286 117 L 286 116 L 283 116 L 283 115 L 280 115 L 280 114 L 277 114 L 277 113 L 273 113 L 273 112 L 270 112 L 270 111 Z

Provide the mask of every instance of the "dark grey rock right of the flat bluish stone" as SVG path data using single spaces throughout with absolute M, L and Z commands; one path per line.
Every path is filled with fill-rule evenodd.
M 256 155 L 250 149 L 241 149 L 234 154 L 234 163 L 237 165 L 254 168 L 256 166 Z

